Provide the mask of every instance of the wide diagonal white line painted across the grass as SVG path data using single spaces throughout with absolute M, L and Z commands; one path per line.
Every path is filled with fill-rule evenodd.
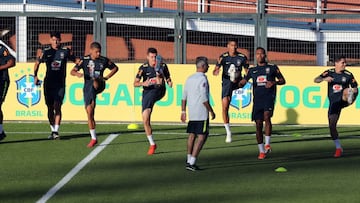
M 119 134 L 110 134 L 99 146 L 97 146 L 89 155 L 79 162 L 69 173 L 67 173 L 56 185 L 54 185 L 37 203 L 45 203 L 55 195 L 64 185 L 66 185 L 81 169 L 83 169 L 91 160 L 93 160 L 105 147 L 110 144 Z

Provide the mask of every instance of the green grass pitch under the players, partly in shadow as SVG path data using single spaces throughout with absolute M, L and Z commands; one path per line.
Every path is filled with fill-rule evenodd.
M 153 127 L 158 150 L 148 156 L 141 125 L 98 124 L 100 142 L 120 135 L 49 202 L 359 201 L 360 127 L 339 127 L 344 156 L 335 159 L 326 127 L 274 126 L 273 152 L 257 160 L 253 126 L 232 127 L 231 144 L 213 126 L 198 159 L 204 170 L 196 172 L 185 170 L 185 126 Z M 37 201 L 92 150 L 85 124 L 63 124 L 61 140 L 46 139 L 46 123 L 5 123 L 5 130 L 1 202 Z M 288 171 L 276 173 L 280 166 Z

